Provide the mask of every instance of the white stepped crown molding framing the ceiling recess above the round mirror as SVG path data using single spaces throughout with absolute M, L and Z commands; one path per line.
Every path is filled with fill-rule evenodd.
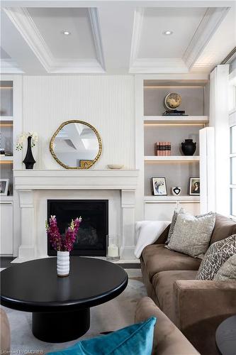
M 50 48 L 48 48 L 43 36 L 38 31 L 37 26 L 25 8 L 8 8 L 4 9 L 7 16 L 23 36 L 30 49 L 41 62 L 45 70 L 52 73 L 103 73 L 105 70 L 103 60 L 103 50 L 101 45 L 101 33 L 99 20 L 96 9 L 91 9 L 89 12 L 92 33 L 94 36 L 94 43 L 96 54 L 99 60 L 59 60 L 52 55 Z

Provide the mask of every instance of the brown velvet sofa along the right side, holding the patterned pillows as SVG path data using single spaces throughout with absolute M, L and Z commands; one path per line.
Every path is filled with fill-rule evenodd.
M 218 354 L 215 330 L 236 314 L 236 281 L 195 280 L 201 259 L 164 248 L 168 231 L 142 251 L 147 295 L 202 355 Z M 210 244 L 232 234 L 236 223 L 217 214 Z

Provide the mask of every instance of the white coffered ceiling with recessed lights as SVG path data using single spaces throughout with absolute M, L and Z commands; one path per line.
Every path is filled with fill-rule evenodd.
M 1 1 L 1 72 L 210 72 L 235 1 Z

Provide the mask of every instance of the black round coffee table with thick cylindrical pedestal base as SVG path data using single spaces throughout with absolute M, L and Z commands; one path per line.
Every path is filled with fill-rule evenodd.
M 14 264 L 1 271 L 1 304 L 33 312 L 32 331 L 44 342 L 69 342 L 87 332 L 90 307 L 125 290 L 123 268 L 96 258 L 70 257 L 69 276 L 57 277 L 57 258 Z

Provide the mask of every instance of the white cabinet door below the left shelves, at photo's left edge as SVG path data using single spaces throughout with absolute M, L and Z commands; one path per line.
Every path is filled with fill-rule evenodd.
M 1 240 L 0 240 L 0 254 L 13 254 L 13 202 L 0 202 L 1 209 Z

